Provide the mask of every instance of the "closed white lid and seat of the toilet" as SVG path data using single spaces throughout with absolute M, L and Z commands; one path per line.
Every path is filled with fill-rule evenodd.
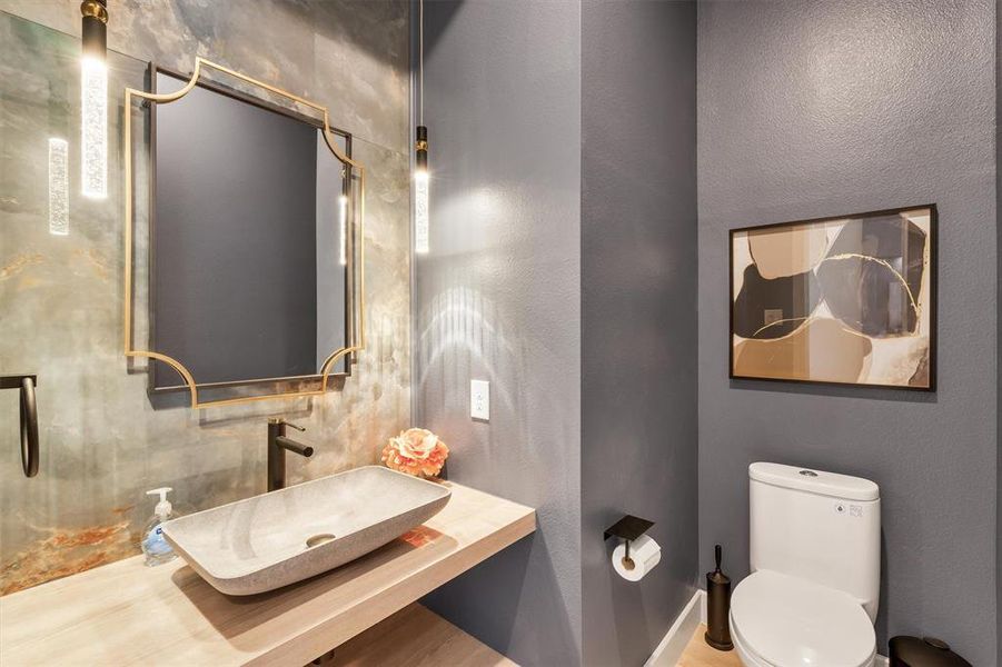
M 731 636 L 754 667 L 866 667 L 876 656 L 873 624 L 852 596 L 770 570 L 734 589 Z

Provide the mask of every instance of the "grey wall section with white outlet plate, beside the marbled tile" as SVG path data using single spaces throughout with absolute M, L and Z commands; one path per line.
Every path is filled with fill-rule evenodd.
M 449 477 L 538 531 L 429 598 L 522 665 L 581 655 L 581 70 L 576 2 L 425 4 L 431 252 L 417 258 L 416 421 Z M 469 418 L 470 378 L 490 421 Z

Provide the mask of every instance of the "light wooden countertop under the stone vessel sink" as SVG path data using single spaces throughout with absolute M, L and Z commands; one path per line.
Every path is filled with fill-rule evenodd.
M 305 665 L 536 529 L 532 508 L 449 486 L 424 526 L 271 593 L 137 556 L 0 597 L 0 665 Z

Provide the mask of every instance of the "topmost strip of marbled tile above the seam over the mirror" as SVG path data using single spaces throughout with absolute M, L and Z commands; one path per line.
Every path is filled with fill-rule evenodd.
M 0 0 L 0 9 L 79 37 L 79 3 Z M 409 146 L 405 0 L 118 0 L 108 48 L 188 72 L 195 56 L 327 104 L 331 123 L 386 148 Z

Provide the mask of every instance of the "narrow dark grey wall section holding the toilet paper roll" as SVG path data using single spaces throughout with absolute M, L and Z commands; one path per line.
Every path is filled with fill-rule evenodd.
M 697 577 L 696 7 L 582 4 L 583 661 L 643 665 Z M 616 576 L 624 514 L 661 564 Z

